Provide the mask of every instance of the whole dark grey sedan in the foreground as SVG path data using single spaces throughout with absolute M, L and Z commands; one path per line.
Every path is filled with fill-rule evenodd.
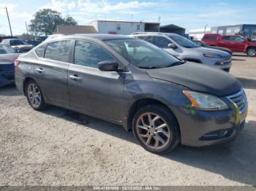
M 247 114 L 232 75 L 129 36 L 42 42 L 15 62 L 15 83 L 33 109 L 52 104 L 115 122 L 155 153 L 230 141 Z

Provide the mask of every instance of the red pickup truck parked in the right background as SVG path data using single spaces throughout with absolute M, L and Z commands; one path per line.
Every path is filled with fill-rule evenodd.
M 256 42 L 244 36 L 205 34 L 202 41 L 211 46 L 225 47 L 233 52 L 244 52 L 248 56 L 256 56 Z

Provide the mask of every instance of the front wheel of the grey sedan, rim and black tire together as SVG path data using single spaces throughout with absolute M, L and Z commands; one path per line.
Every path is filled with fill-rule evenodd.
M 148 114 L 151 122 L 148 120 Z M 159 104 L 138 109 L 132 120 L 132 131 L 144 149 L 156 154 L 170 152 L 180 142 L 176 117 L 169 109 Z

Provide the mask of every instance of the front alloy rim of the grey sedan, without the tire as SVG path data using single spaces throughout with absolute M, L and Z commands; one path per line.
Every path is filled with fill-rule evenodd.
M 158 114 L 151 112 L 138 117 L 136 130 L 143 144 L 151 149 L 162 149 L 172 139 L 167 122 Z

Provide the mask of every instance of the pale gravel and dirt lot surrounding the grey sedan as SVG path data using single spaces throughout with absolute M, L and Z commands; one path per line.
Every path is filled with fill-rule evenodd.
M 0 89 L 0 186 L 256 185 L 256 58 L 233 57 L 249 116 L 238 139 L 177 147 L 165 156 L 140 147 L 118 125 L 65 109 L 36 112 L 14 86 Z

